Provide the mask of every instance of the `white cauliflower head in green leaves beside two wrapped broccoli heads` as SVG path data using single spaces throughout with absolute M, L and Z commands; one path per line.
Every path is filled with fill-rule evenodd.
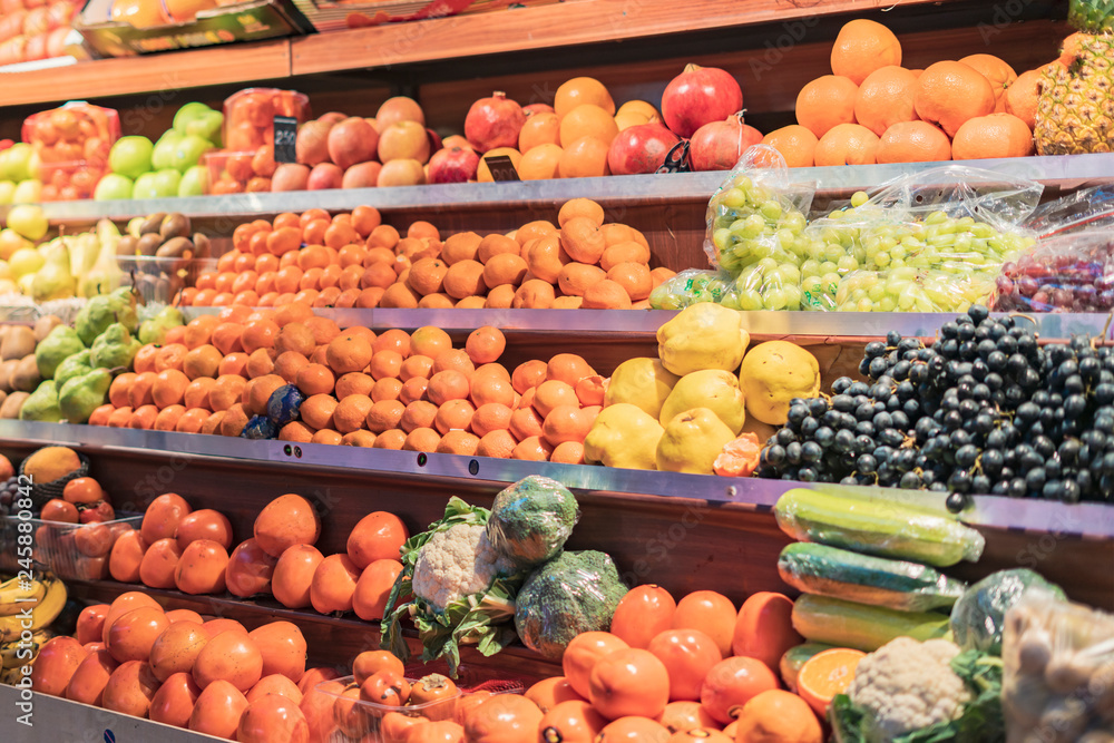
M 487 590 L 504 571 L 482 525 L 458 524 L 434 534 L 418 553 L 413 592 L 439 609 Z

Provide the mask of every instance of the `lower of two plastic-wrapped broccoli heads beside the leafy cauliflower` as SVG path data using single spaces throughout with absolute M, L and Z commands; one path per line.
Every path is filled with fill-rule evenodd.
M 584 632 L 607 632 L 627 587 L 610 556 L 561 553 L 522 584 L 515 605 L 515 628 L 522 643 L 549 661 Z

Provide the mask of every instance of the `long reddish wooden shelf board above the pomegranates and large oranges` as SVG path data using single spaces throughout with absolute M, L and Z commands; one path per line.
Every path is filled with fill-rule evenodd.
M 393 67 L 956 1 L 693 0 L 678 11 L 673 0 L 575 0 L 511 12 L 453 16 L 408 26 L 302 37 L 291 42 L 292 69 L 297 76 L 358 67 Z

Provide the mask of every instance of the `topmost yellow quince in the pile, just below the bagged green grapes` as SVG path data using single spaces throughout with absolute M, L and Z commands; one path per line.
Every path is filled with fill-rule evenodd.
M 674 374 L 701 369 L 734 372 L 750 341 L 741 312 L 702 302 L 657 329 L 657 356 Z

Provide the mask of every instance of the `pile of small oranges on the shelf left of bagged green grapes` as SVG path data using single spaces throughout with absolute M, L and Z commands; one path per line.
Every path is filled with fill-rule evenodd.
M 535 120 L 534 117 L 530 119 Z M 604 209 L 577 198 L 557 225 L 536 221 L 510 235 L 459 233 L 441 239 L 429 222 L 405 235 L 373 207 L 256 219 L 233 233 L 215 271 L 183 290 L 183 306 L 460 309 L 648 309 L 674 272 L 649 267 L 649 243 Z

